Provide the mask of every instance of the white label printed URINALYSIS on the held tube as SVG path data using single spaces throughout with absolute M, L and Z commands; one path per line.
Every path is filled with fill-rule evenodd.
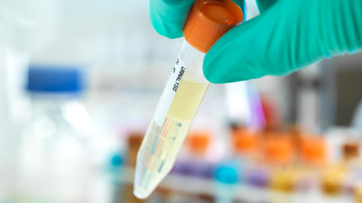
M 178 55 L 173 65 L 170 75 L 168 76 L 165 88 L 159 102 L 157 103 L 155 115 L 153 118 L 158 126 L 162 126 L 165 121 L 168 110 L 170 109 L 173 97 L 176 94 L 178 85 L 180 85 L 182 76 L 186 70 L 185 63 L 181 61 Z

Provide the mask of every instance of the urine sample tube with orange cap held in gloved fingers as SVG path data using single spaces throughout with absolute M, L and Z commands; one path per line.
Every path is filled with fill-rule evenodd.
M 171 171 L 210 84 L 202 72 L 205 53 L 242 21 L 243 12 L 231 0 L 194 2 L 183 30 L 184 43 L 137 154 L 136 197 L 147 198 Z

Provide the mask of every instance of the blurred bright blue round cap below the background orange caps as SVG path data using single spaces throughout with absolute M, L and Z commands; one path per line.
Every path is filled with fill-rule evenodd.
M 226 184 L 235 184 L 241 180 L 241 165 L 240 163 L 231 161 L 220 164 L 215 169 L 215 178 L 219 182 L 226 183 Z

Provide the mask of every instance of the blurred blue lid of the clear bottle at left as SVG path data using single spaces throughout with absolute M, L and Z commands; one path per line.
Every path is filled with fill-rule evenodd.
M 83 75 L 79 66 L 29 66 L 26 87 L 29 92 L 78 93 L 83 88 Z

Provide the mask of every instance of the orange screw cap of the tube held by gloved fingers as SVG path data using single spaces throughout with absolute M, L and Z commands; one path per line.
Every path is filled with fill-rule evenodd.
M 196 0 L 184 27 L 185 40 L 206 53 L 228 30 L 240 25 L 244 15 L 232 0 Z

